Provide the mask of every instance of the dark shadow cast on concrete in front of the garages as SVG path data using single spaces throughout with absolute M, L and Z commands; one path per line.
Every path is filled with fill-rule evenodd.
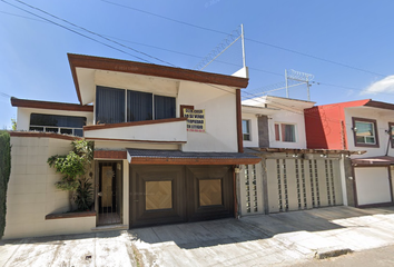
M 356 209 L 329 207 L 302 211 L 257 215 L 237 219 L 156 226 L 129 230 L 134 239 L 147 244 L 174 243 L 184 249 L 211 247 L 272 238 L 297 231 L 328 231 L 346 228 L 333 220 L 375 214 L 394 214 L 394 207 Z

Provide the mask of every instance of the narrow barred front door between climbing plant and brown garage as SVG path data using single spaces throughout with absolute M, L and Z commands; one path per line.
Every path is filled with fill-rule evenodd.
M 97 225 L 104 226 L 121 224 L 121 162 L 99 162 L 97 178 Z

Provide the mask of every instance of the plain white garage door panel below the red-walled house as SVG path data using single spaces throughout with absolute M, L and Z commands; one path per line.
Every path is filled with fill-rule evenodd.
M 359 206 L 392 201 L 386 167 L 363 167 L 354 171 Z

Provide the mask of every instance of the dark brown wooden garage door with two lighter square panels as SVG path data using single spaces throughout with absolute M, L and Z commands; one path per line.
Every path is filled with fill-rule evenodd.
M 230 166 L 130 166 L 130 226 L 234 216 Z

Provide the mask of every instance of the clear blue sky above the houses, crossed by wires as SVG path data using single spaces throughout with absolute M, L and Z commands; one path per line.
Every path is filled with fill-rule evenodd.
M 28 3 L 129 48 L 83 32 L 21 1 L 1 0 L 0 128 L 10 128 L 10 119 L 17 117 L 17 109 L 7 96 L 78 101 L 68 52 L 157 65 L 165 61 L 193 69 L 226 39 L 220 32 L 229 34 L 240 23 L 245 28 L 246 65 L 250 68 L 244 97 L 283 87 L 285 69 L 295 69 L 314 75 L 316 83 L 311 88 L 311 100 L 317 105 L 365 98 L 394 102 L 391 77 L 394 2 L 390 0 L 30 0 Z M 238 66 L 242 67 L 239 41 L 206 70 L 232 75 Z M 306 99 L 305 88 L 292 88 L 290 97 Z M 272 95 L 283 97 L 285 91 Z

